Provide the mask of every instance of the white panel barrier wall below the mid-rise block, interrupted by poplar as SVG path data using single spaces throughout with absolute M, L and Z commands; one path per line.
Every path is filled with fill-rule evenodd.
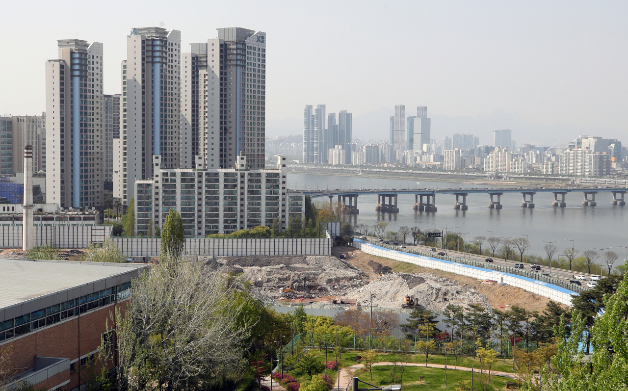
M 112 237 L 122 254 L 129 257 L 156 257 L 160 253 L 160 238 Z M 244 255 L 331 255 L 332 238 L 294 239 L 185 239 L 187 255 L 212 257 L 242 257 Z

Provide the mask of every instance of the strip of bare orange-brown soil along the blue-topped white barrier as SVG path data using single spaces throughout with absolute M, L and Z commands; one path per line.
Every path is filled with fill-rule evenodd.
M 398 260 L 377 257 L 376 255 L 367 254 L 354 247 L 335 246 L 332 247 L 332 255 L 339 257 L 340 254 L 349 255 L 349 263 L 364 271 L 371 281 L 374 281 L 379 277 L 372 267 L 368 265 L 369 262 L 377 262 L 378 264 L 389 266 L 396 273 L 434 273 L 438 277 L 450 278 L 452 281 L 460 282 L 460 285 L 467 284 L 468 286 L 475 286 L 475 290 L 489 299 L 490 306 L 495 309 L 508 309 L 510 306 L 519 306 L 521 308 L 528 309 L 528 311 L 542 311 L 549 299 L 547 297 L 539 296 L 533 292 L 526 291 L 518 287 L 510 285 L 498 285 L 498 284 L 483 284 L 482 281 L 474 279 L 472 277 L 460 276 L 459 274 L 443 272 L 442 270 L 430 269 L 428 267 L 421 267 L 418 265 L 408 264 L 407 262 L 400 262 Z

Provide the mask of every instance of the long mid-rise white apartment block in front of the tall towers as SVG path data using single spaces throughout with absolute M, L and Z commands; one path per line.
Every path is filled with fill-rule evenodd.
M 136 233 L 144 236 L 162 227 L 170 209 L 181 214 L 187 237 L 266 225 L 275 221 L 286 228 L 291 218 L 305 218 L 305 196 L 286 190 L 286 158 L 278 157 L 276 168 L 246 169 L 246 156 L 237 168 L 161 168 L 153 156 L 155 177 L 136 181 Z M 149 228 L 150 227 L 150 228 Z

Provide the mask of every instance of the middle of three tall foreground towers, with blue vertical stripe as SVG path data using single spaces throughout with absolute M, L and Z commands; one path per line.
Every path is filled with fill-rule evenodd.
M 133 28 L 122 61 L 121 135 L 114 139 L 114 198 L 128 205 L 135 181 L 181 164 L 181 32 Z

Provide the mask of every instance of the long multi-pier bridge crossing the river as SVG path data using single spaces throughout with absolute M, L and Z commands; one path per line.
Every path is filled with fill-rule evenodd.
M 554 201 L 552 206 L 565 207 L 565 196 L 569 193 L 582 193 L 582 205 L 596 206 L 595 195 L 600 192 L 613 193 L 611 205 L 624 206 L 624 195 L 628 192 L 628 188 L 452 188 L 452 189 L 362 189 L 362 190 L 313 190 L 304 189 L 305 195 L 311 198 L 329 197 L 329 203 L 332 205 L 333 198 L 338 198 L 338 205 L 344 205 L 351 210 L 351 213 L 359 213 L 357 206 L 357 198 L 360 195 L 376 195 L 376 210 L 382 212 L 398 213 L 399 208 L 397 198 L 400 194 L 414 195 L 414 210 L 425 212 L 436 212 L 436 194 L 446 194 L 455 196 L 455 204 L 453 208 L 467 210 L 467 196 L 472 194 L 486 194 L 489 196 L 489 208 L 501 209 L 501 196 L 504 193 L 521 193 L 521 206 L 524 208 L 534 208 L 534 195 L 536 193 L 554 193 Z

